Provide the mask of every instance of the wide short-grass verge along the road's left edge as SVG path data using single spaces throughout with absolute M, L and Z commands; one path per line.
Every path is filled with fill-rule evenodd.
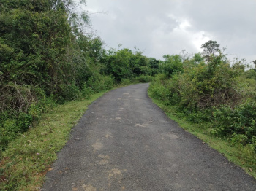
M 0 156 L 0 190 L 40 190 L 70 130 L 87 106 L 105 92 L 57 106 L 42 114 L 31 130 L 12 141 Z

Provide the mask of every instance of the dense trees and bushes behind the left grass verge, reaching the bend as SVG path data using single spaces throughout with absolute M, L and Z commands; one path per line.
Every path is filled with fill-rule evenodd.
M 89 15 L 74 12 L 76 6 L 1 1 L 0 153 L 45 109 L 157 74 L 158 61 L 139 50 L 105 50 L 99 36 L 86 33 Z

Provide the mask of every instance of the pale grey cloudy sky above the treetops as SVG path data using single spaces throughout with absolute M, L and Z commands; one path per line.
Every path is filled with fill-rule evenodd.
M 208 40 L 230 57 L 256 59 L 256 0 L 86 0 L 91 23 L 109 47 L 148 57 L 200 52 Z M 97 13 L 99 12 L 99 13 Z

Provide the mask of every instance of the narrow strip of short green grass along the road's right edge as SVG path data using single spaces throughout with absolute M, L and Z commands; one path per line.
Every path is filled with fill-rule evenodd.
M 174 106 L 166 106 L 161 101 L 152 98 L 149 91 L 148 95 L 154 104 L 157 104 L 157 106 L 159 106 L 171 120 L 176 121 L 181 128 L 197 136 L 204 143 L 222 153 L 228 160 L 243 168 L 247 174 L 256 179 L 256 154 L 252 147 L 243 147 L 241 144 L 233 143 L 228 139 L 213 136 L 210 133 L 210 124 L 192 124 L 191 122 L 187 122 L 184 120 L 182 114 L 177 112 Z

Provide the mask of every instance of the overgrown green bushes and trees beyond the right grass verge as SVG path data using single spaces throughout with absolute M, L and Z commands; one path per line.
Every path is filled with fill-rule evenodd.
M 245 70 L 244 61 L 238 59 L 228 61 L 217 42 L 206 42 L 202 48 L 202 53 L 190 57 L 165 55 L 162 74 L 149 92 L 173 115 L 199 125 L 208 136 L 226 140 L 239 153 L 246 152 L 244 158 L 237 157 L 250 156 L 247 171 L 252 167 L 255 171 L 255 69 Z

